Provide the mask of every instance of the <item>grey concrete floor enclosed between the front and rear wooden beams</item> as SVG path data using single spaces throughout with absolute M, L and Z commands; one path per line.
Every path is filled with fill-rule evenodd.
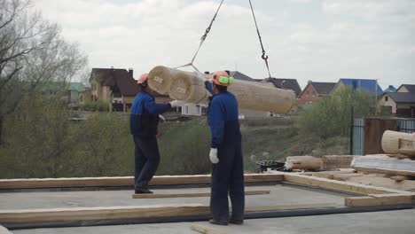
M 288 184 L 247 186 L 247 190 L 270 190 L 270 194 L 246 196 L 246 206 L 331 204 L 343 206 L 346 194 L 317 191 Z M 209 188 L 153 190 L 156 193 L 207 192 Z M 199 203 L 208 205 L 209 197 L 131 199 L 132 190 L 122 191 L 28 191 L 0 193 L 0 209 L 61 207 L 118 207 Z

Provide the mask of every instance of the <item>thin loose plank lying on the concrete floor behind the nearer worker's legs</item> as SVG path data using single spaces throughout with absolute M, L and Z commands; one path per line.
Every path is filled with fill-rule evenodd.
M 245 195 L 270 194 L 270 190 L 245 191 Z M 165 198 L 194 198 L 210 197 L 210 192 L 182 192 L 182 193 L 141 193 L 133 194 L 133 199 L 165 199 Z

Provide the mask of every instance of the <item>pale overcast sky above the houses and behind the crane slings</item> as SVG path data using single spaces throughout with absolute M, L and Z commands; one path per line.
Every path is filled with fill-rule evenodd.
M 90 67 L 188 63 L 219 0 L 34 0 Z M 415 83 L 415 1 L 252 0 L 274 77 Z M 201 71 L 267 77 L 248 0 L 225 0 L 195 61 Z

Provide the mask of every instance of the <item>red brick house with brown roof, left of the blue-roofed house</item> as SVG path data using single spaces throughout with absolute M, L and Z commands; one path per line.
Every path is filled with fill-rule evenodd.
M 336 82 L 311 82 L 302 90 L 298 97 L 298 105 L 310 105 L 318 98 L 330 96 Z

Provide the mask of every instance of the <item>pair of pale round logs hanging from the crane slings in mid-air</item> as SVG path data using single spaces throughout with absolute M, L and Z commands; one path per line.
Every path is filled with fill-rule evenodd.
M 198 76 L 203 76 L 202 79 Z M 203 79 L 207 74 L 185 72 L 166 66 L 155 66 L 149 73 L 149 86 L 170 98 L 193 104 L 207 104 L 210 93 Z M 281 90 L 270 83 L 235 80 L 229 91 L 238 99 L 239 108 L 271 113 L 290 113 L 297 106 L 293 90 Z

